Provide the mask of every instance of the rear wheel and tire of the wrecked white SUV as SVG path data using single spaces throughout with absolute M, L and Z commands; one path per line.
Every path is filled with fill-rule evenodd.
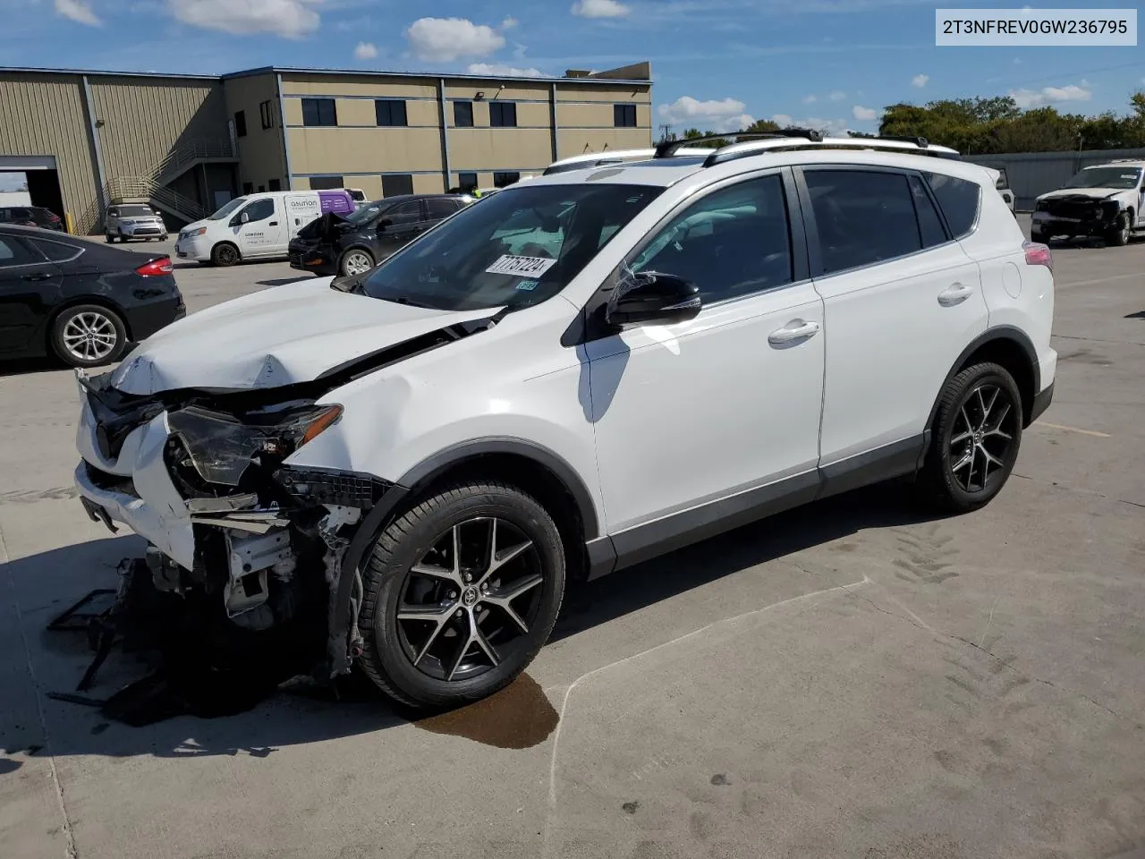
M 974 364 L 950 379 L 918 475 L 924 497 L 947 513 L 989 504 L 1018 460 L 1022 415 L 1018 385 L 1000 364 Z

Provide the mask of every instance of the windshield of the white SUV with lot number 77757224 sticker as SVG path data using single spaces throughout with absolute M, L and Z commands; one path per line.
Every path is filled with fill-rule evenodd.
M 521 186 L 461 210 L 373 269 L 362 291 L 439 310 L 537 305 L 663 188 Z

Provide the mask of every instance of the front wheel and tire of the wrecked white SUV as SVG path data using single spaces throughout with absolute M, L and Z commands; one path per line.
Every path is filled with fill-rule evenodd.
M 512 683 L 548 639 L 563 545 L 531 496 L 497 481 L 459 483 L 382 530 L 364 591 L 366 676 L 409 707 L 453 708 Z

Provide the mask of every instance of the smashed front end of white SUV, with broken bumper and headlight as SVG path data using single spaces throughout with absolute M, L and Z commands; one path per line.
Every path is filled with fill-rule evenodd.
M 315 668 L 348 671 L 361 653 L 362 582 L 356 568 L 342 581 L 342 560 L 390 484 L 285 464 L 342 407 L 316 402 L 305 386 L 129 395 L 110 375 L 78 379 L 84 506 L 151 543 L 156 590 L 191 597 L 247 631 L 322 626 Z

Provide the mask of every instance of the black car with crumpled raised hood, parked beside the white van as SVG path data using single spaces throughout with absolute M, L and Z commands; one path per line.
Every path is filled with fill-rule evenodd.
M 346 216 L 329 212 L 291 239 L 291 268 L 318 275 L 368 271 L 472 202 L 460 194 L 405 194 L 366 203 Z

